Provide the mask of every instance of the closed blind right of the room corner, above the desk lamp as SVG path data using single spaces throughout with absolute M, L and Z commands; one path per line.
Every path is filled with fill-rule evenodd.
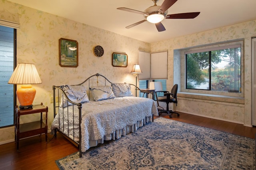
M 151 53 L 151 79 L 167 79 L 167 51 Z

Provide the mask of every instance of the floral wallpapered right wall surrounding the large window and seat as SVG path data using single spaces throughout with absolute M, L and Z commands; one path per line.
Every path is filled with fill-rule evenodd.
M 165 41 L 151 43 L 151 51 L 168 50 L 168 80 L 167 87 L 170 90 L 175 83 L 181 82 L 179 49 L 197 47 L 212 43 L 219 43 L 237 39 L 244 39 L 244 61 L 242 77 L 242 99 L 216 98 L 202 96 L 191 98 L 189 94 L 179 89 L 178 106 L 174 109 L 184 113 L 201 115 L 214 119 L 240 123 L 245 126 L 252 126 L 252 37 L 256 36 L 256 20 L 230 25 L 210 31 L 176 37 Z M 178 75 L 178 76 L 176 76 Z M 182 86 L 179 86 L 182 87 Z M 203 93 L 203 92 L 201 92 Z M 202 95 L 202 94 L 201 94 Z M 238 95 L 239 96 L 239 95 Z M 217 99 L 217 100 L 216 100 Z M 224 102 L 219 102 L 224 100 Z M 242 100 L 242 102 L 241 102 Z

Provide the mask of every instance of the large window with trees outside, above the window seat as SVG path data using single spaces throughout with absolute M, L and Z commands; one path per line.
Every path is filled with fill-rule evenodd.
M 241 92 L 241 44 L 186 51 L 186 89 Z

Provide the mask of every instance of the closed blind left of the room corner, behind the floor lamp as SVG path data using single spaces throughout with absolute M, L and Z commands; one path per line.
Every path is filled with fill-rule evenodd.
M 150 53 L 139 51 L 139 64 L 142 73 L 138 75 L 139 80 L 150 80 Z

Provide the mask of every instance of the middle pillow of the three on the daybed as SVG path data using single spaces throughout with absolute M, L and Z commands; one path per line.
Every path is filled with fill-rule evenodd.
M 90 91 L 92 92 L 92 96 L 95 101 L 112 99 L 116 97 L 110 86 L 94 86 L 90 88 Z

